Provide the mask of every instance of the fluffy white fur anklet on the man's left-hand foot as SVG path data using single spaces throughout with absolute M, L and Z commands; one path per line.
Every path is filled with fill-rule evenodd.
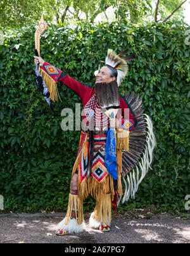
M 82 224 L 77 224 L 76 219 L 70 219 L 70 222 L 66 225 L 65 224 L 66 221 L 66 217 L 63 219 L 63 221 L 61 221 L 60 223 L 58 223 L 56 230 L 58 229 L 66 229 L 66 231 L 68 231 L 68 233 L 80 233 L 85 229 L 85 221 L 82 222 Z

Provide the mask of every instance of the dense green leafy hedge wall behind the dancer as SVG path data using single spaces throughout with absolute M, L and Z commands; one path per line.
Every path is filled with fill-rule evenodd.
M 58 85 L 62 103 L 51 112 L 39 93 L 34 75 L 34 27 L 4 30 L 0 46 L 0 194 L 4 210 L 37 212 L 66 210 L 72 166 L 79 146 L 79 131 L 61 130 L 61 110 L 80 98 Z M 143 98 L 153 120 L 157 147 L 153 170 L 140 185 L 136 200 L 121 209 L 155 204 L 158 210 L 183 212 L 190 194 L 189 82 L 190 46 L 187 25 L 148 23 L 118 25 L 78 23 L 56 27 L 41 37 L 41 56 L 70 76 L 94 84 L 94 70 L 106 51 L 129 49 L 136 54 L 123 82 L 125 93 Z M 122 93 L 122 87 L 120 88 Z M 84 210 L 94 207 L 85 200 Z

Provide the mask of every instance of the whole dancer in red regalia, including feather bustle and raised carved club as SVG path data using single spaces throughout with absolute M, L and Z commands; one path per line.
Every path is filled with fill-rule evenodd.
M 90 226 L 110 231 L 111 204 L 116 210 L 121 200 L 124 203 L 135 198 L 139 184 L 151 169 L 156 146 L 153 124 L 144 113 L 139 94 L 128 92 L 125 97 L 118 94 L 118 86 L 128 71 L 127 61 L 135 56 L 124 57 L 127 51 L 117 55 L 109 49 L 106 60 L 100 61 L 106 65 L 102 68 L 99 65 L 94 73 L 95 86 L 87 86 L 39 57 L 40 38 L 46 28 L 42 15 L 35 31 L 37 85 L 51 110 L 51 101 L 60 98 L 58 81 L 75 91 L 82 99 L 84 123 L 72 171 L 68 210 L 56 234 L 79 233 L 85 229 L 82 202 L 88 195 L 96 198 Z

